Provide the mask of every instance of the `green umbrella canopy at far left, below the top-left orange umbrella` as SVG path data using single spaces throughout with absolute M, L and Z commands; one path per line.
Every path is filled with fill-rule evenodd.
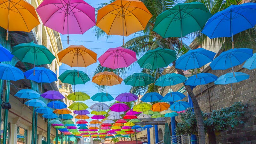
M 56 58 L 47 47 L 35 44 L 33 41 L 14 46 L 12 54 L 20 61 L 34 65 L 51 64 Z

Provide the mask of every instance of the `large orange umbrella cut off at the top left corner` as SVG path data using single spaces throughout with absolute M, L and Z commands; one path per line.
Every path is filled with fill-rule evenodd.
M 0 0 L 0 26 L 9 31 L 30 32 L 40 22 L 35 8 L 24 0 Z

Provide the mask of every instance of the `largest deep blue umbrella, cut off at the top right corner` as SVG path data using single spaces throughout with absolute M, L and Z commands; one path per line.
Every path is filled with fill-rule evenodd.
M 245 3 L 230 5 L 223 11 L 215 13 L 205 24 L 202 33 L 210 39 L 218 37 L 232 37 L 256 24 L 256 4 Z

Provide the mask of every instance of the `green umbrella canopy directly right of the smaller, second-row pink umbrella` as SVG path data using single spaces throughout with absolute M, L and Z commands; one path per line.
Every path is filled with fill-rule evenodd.
M 158 47 L 147 51 L 137 62 L 140 68 L 156 69 L 167 67 L 176 59 L 176 53 L 173 50 Z

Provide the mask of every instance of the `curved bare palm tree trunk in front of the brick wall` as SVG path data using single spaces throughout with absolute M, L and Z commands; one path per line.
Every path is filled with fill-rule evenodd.
M 173 61 L 172 64 L 175 67 L 176 61 Z M 176 68 L 176 70 L 177 70 L 178 74 L 180 74 L 182 76 L 185 76 L 181 69 Z M 194 105 L 194 111 L 195 111 L 195 114 L 196 114 L 196 122 L 197 122 L 197 132 L 198 132 L 198 137 L 199 137 L 199 144 L 205 144 L 204 122 L 203 122 L 201 109 L 199 107 L 199 104 L 198 104 L 198 102 L 196 100 L 196 97 L 195 97 L 192 89 L 190 88 L 190 86 L 185 85 L 185 84 L 184 84 L 184 86 L 185 86 L 189 96 L 191 97 L 192 103 Z

